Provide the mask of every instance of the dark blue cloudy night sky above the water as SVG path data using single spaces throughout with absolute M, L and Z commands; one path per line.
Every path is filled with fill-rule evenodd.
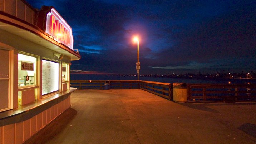
M 72 70 L 136 74 L 256 71 L 255 0 L 27 0 L 72 27 Z

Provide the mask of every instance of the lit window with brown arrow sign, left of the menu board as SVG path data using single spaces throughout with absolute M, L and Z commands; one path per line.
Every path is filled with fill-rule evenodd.
M 18 86 L 36 85 L 36 58 L 18 54 Z

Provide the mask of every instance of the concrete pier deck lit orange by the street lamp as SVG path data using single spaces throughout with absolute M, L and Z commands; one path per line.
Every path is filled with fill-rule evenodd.
M 76 90 L 26 143 L 256 143 L 256 102 L 175 103 L 141 89 Z

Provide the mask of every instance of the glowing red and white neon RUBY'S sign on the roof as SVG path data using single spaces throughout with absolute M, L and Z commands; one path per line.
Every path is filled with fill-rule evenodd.
M 45 32 L 53 36 L 56 41 L 73 49 L 72 29 L 54 8 L 51 8 L 51 12 L 47 14 Z

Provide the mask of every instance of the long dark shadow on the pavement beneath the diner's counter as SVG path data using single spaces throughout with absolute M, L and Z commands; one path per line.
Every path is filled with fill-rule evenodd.
M 64 128 L 69 124 L 69 122 L 77 115 L 75 109 L 69 108 L 60 114 L 57 118 L 51 121 L 38 133 L 33 135 L 24 144 L 44 144 L 47 141 L 58 135 Z

